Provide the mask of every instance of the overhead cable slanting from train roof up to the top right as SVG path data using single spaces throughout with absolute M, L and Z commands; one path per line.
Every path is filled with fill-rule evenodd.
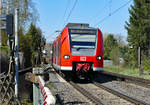
M 117 8 L 116 10 L 114 10 L 112 13 L 110 13 L 108 16 L 105 16 L 103 19 L 101 19 L 99 22 L 97 22 L 94 26 L 97 26 L 99 23 L 104 22 L 107 18 L 109 18 L 110 16 L 114 15 L 116 12 L 118 12 L 120 9 L 122 9 L 123 7 L 125 7 L 127 4 L 129 4 L 132 0 L 129 0 L 128 2 L 126 2 L 124 5 L 122 5 L 121 7 Z

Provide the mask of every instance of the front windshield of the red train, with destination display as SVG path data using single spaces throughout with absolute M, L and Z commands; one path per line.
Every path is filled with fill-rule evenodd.
M 94 51 L 97 37 L 96 33 L 96 30 L 92 29 L 71 29 L 70 38 L 72 54 L 82 55 L 82 53 L 85 54 L 86 51 Z

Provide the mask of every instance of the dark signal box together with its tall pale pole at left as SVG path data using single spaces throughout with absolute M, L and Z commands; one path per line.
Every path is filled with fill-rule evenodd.
M 0 27 L 0 30 L 1 29 L 4 29 L 6 30 L 6 33 L 7 35 L 9 35 L 9 42 L 10 42 L 10 49 L 11 49 L 11 59 L 14 59 L 15 58 L 15 82 L 16 82 L 16 85 L 15 85 L 15 95 L 16 97 L 18 97 L 18 69 L 19 69 L 19 62 L 18 62 L 18 59 L 19 59 L 19 55 L 18 55 L 18 49 L 19 49 L 19 41 L 18 41 L 18 28 L 19 28 L 19 24 L 18 24 L 18 13 L 19 13 L 19 10 L 18 9 L 15 9 L 15 17 L 13 14 L 8 14 L 6 16 L 1 16 L 0 19 L 1 19 L 1 23 L 2 22 L 5 22 L 5 24 L 0 24 L 1 27 Z M 14 20 L 15 18 L 15 20 Z M 15 26 L 15 28 L 14 28 Z M 14 30 L 15 30 L 15 33 L 14 33 Z M 1 31 L 0 31 L 0 34 L 1 34 Z M 14 35 L 14 37 L 13 37 Z M 1 39 L 1 35 L 0 35 L 0 39 Z M 13 49 L 13 44 L 12 44 L 12 41 L 15 42 L 15 49 Z M 0 40 L 1 42 L 1 40 Z M 0 44 L 1 45 L 1 44 Z M 14 53 L 14 54 L 13 54 Z M 15 56 L 15 57 L 14 57 Z

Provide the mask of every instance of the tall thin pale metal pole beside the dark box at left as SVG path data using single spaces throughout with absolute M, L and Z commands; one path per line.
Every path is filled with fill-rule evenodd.
M 19 9 L 15 9 L 15 95 L 18 97 L 18 69 L 19 69 L 19 55 L 18 55 L 18 49 L 19 49 L 19 40 L 18 40 L 18 29 L 19 29 L 19 24 L 18 24 L 18 13 Z

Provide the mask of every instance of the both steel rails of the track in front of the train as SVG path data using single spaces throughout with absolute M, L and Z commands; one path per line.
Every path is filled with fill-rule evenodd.
M 123 77 L 122 77 L 123 78 Z M 122 79 L 121 78 L 121 79 Z M 81 86 L 79 86 L 77 83 L 74 83 L 73 81 L 69 81 L 69 83 L 77 90 L 79 91 L 82 95 L 84 95 L 85 97 L 87 97 L 91 102 L 95 103 L 96 105 L 106 105 L 105 103 L 103 103 L 104 100 L 100 100 L 98 97 L 94 96 L 92 93 L 90 93 L 88 90 L 82 88 Z M 142 100 L 136 99 L 134 97 L 128 96 L 127 94 L 118 92 L 114 89 L 108 88 L 104 85 L 101 85 L 98 82 L 92 81 L 91 83 L 95 86 L 97 86 L 98 88 L 101 88 L 104 91 L 107 91 L 115 96 L 120 97 L 121 99 L 124 99 L 128 102 L 131 102 L 135 105 L 150 105 Z

